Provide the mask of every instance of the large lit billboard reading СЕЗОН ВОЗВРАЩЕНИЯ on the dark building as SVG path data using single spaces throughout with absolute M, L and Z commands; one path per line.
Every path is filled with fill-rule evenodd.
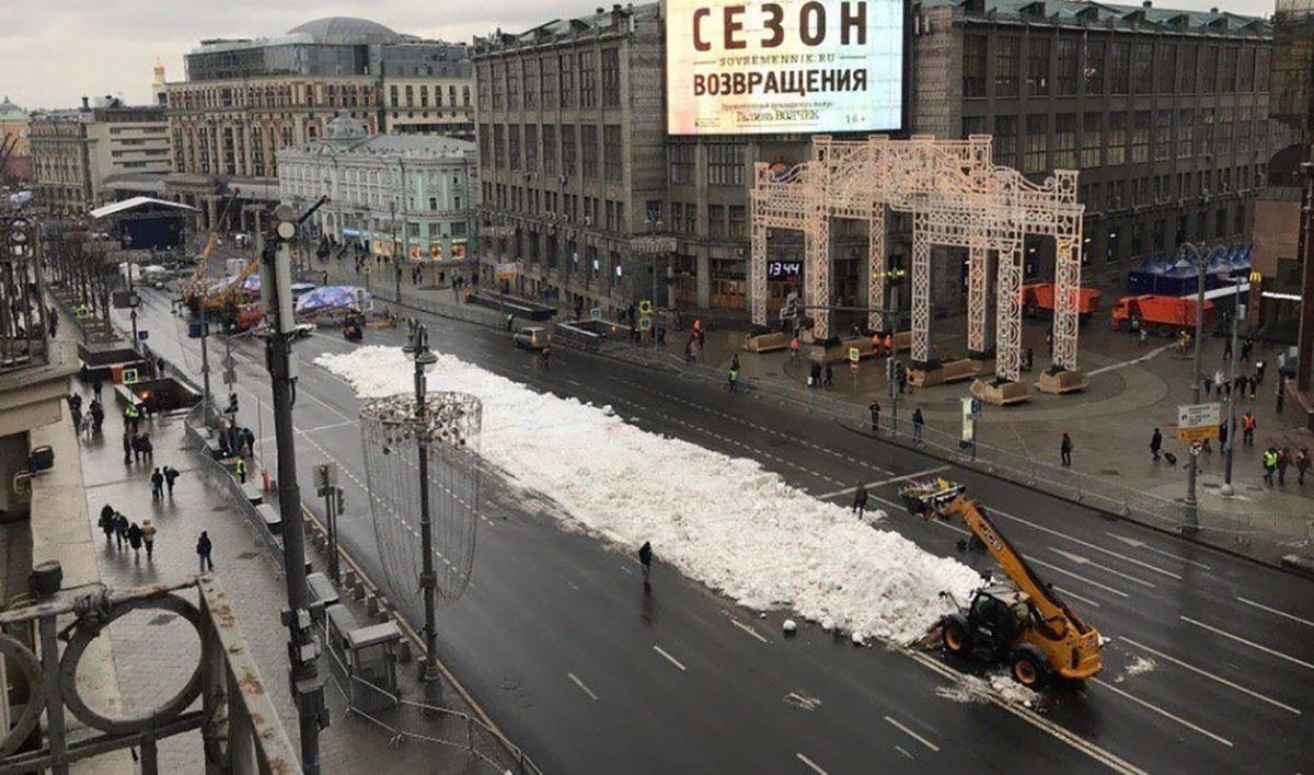
M 900 129 L 904 0 L 666 0 L 666 131 Z

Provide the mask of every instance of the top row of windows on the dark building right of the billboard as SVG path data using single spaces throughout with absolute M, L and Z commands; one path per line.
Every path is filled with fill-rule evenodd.
M 963 37 L 964 97 L 1268 91 L 1269 49 L 1173 38 Z

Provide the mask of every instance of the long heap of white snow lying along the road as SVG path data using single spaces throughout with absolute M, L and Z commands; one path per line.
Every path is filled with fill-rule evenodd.
M 367 398 L 411 390 L 398 348 L 317 361 Z M 650 433 L 614 412 L 530 390 L 440 355 L 431 390 L 484 401 L 482 454 L 570 519 L 756 609 L 792 608 L 825 627 L 908 644 L 980 583 L 967 566 L 872 529 L 757 462 Z

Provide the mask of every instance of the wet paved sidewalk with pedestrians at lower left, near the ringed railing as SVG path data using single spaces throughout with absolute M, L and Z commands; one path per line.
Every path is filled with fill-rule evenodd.
M 85 388 L 78 386 L 83 390 Z M 88 391 L 89 393 L 89 391 Z M 85 397 L 84 397 L 85 398 Z M 142 423 L 151 435 L 155 460 L 124 464 L 120 437 L 122 420 L 116 407 L 106 407 L 100 437 L 81 443 L 85 478 L 85 511 L 92 533 L 92 553 L 105 583 L 113 586 L 168 582 L 197 573 L 196 539 L 208 531 L 214 544 L 214 574 L 234 600 L 247 642 L 260 665 L 279 716 L 294 745 L 298 745 L 297 713 L 286 690 L 286 629 L 280 611 L 286 604 L 281 565 L 254 532 L 256 528 L 234 504 L 226 482 L 214 466 L 189 449 L 181 415 L 160 416 Z M 152 500 L 150 473 L 155 466 L 172 465 L 181 476 L 172 497 Z M 258 473 L 255 476 L 259 476 Z M 126 546 L 106 542 L 95 527 L 101 507 L 109 503 L 130 521 L 151 519 L 158 533 L 154 558 L 145 549 L 139 556 Z M 318 558 L 317 558 L 318 560 Z M 365 621 L 360 611 L 361 621 Z M 126 708 L 141 708 L 170 696 L 185 683 L 200 657 L 200 642 L 185 621 L 171 613 L 129 615 L 109 628 L 113 665 Z M 330 670 L 330 658 L 321 658 L 321 671 Z M 402 665 L 403 696 L 419 696 L 414 687 L 414 667 Z M 455 692 L 448 692 L 455 695 Z M 451 699 L 451 698 L 447 698 Z M 490 772 L 451 745 L 409 745 L 396 747 L 394 734 L 363 717 L 348 715 L 346 699 L 334 680 L 326 687 L 331 725 L 321 733 L 325 772 Z M 398 711 L 399 713 L 401 711 Z M 419 728 L 407 713 L 409 728 Z M 436 724 L 436 722 L 435 722 Z M 160 742 L 160 768 L 173 775 L 204 774 L 200 733 L 176 736 Z

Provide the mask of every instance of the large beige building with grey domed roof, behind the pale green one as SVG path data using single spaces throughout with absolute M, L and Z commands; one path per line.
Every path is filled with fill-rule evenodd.
M 473 137 L 464 46 L 422 41 L 364 18 L 330 17 L 272 38 L 204 41 L 187 80 L 164 85 L 177 173 L 170 192 L 213 217 L 218 192 L 277 198 L 277 152 L 323 137 L 339 114 L 369 133 Z M 464 62 L 464 80 L 461 76 Z M 385 110 L 384 93 L 423 87 L 434 106 Z M 438 102 L 442 101 L 442 110 Z M 396 113 L 396 118 L 393 117 Z

